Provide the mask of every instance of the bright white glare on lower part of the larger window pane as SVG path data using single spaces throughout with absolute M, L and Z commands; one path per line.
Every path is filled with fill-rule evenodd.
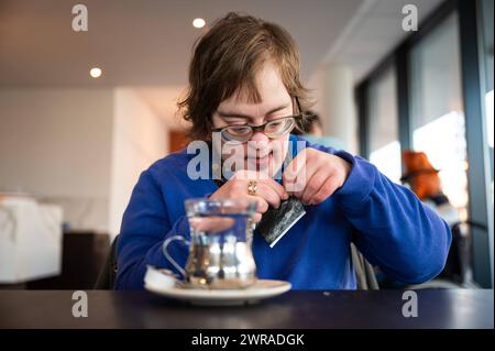
M 443 193 L 458 208 L 468 205 L 464 114 L 450 112 L 414 131 L 415 150 L 424 151 L 440 169 Z

